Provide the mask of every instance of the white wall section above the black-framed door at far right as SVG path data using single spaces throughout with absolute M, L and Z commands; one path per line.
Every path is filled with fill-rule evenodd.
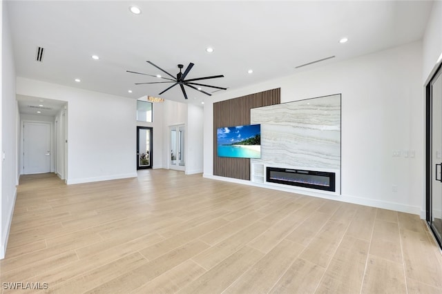
M 442 1 L 434 1 L 423 36 L 423 81 L 429 81 L 442 55 Z M 427 83 L 424 83 L 427 84 Z

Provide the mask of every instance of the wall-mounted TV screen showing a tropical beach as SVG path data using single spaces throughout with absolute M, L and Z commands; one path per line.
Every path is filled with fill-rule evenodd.
M 261 158 L 261 125 L 218 128 L 219 157 Z

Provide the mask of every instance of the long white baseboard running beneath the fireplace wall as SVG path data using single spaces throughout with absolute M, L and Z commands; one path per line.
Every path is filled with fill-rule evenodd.
M 376 199 L 356 197 L 353 195 L 328 195 L 328 194 L 320 193 L 320 192 L 300 190 L 300 189 L 291 188 L 291 187 L 285 188 L 285 187 L 280 187 L 280 186 L 260 184 L 260 183 L 247 181 L 244 179 L 232 179 L 230 177 L 220 177 L 220 176 L 216 176 L 216 175 L 203 174 L 202 177 L 205 177 L 206 179 L 217 179 L 217 180 L 224 181 L 224 182 L 245 184 L 245 185 L 249 185 L 249 186 L 256 186 L 256 187 L 260 187 L 260 188 L 280 190 L 280 191 L 302 194 L 302 195 L 307 195 L 307 196 L 320 197 L 320 198 L 324 198 L 324 199 L 332 199 L 332 200 L 337 200 L 340 202 L 347 202 L 347 203 L 359 204 L 359 205 L 364 205 L 364 206 L 371 206 L 371 207 L 376 207 L 376 208 L 395 210 L 395 211 L 399 211 L 401 213 L 411 213 L 413 215 L 419 215 L 419 217 L 421 217 L 421 219 L 425 219 L 425 211 L 422 211 L 422 208 L 420 206 L 410 206 L 410 205 L 399 204 L 399 203 L 395 203 L 395 202 L 385 202 L 385 201 L 376 200 Z

